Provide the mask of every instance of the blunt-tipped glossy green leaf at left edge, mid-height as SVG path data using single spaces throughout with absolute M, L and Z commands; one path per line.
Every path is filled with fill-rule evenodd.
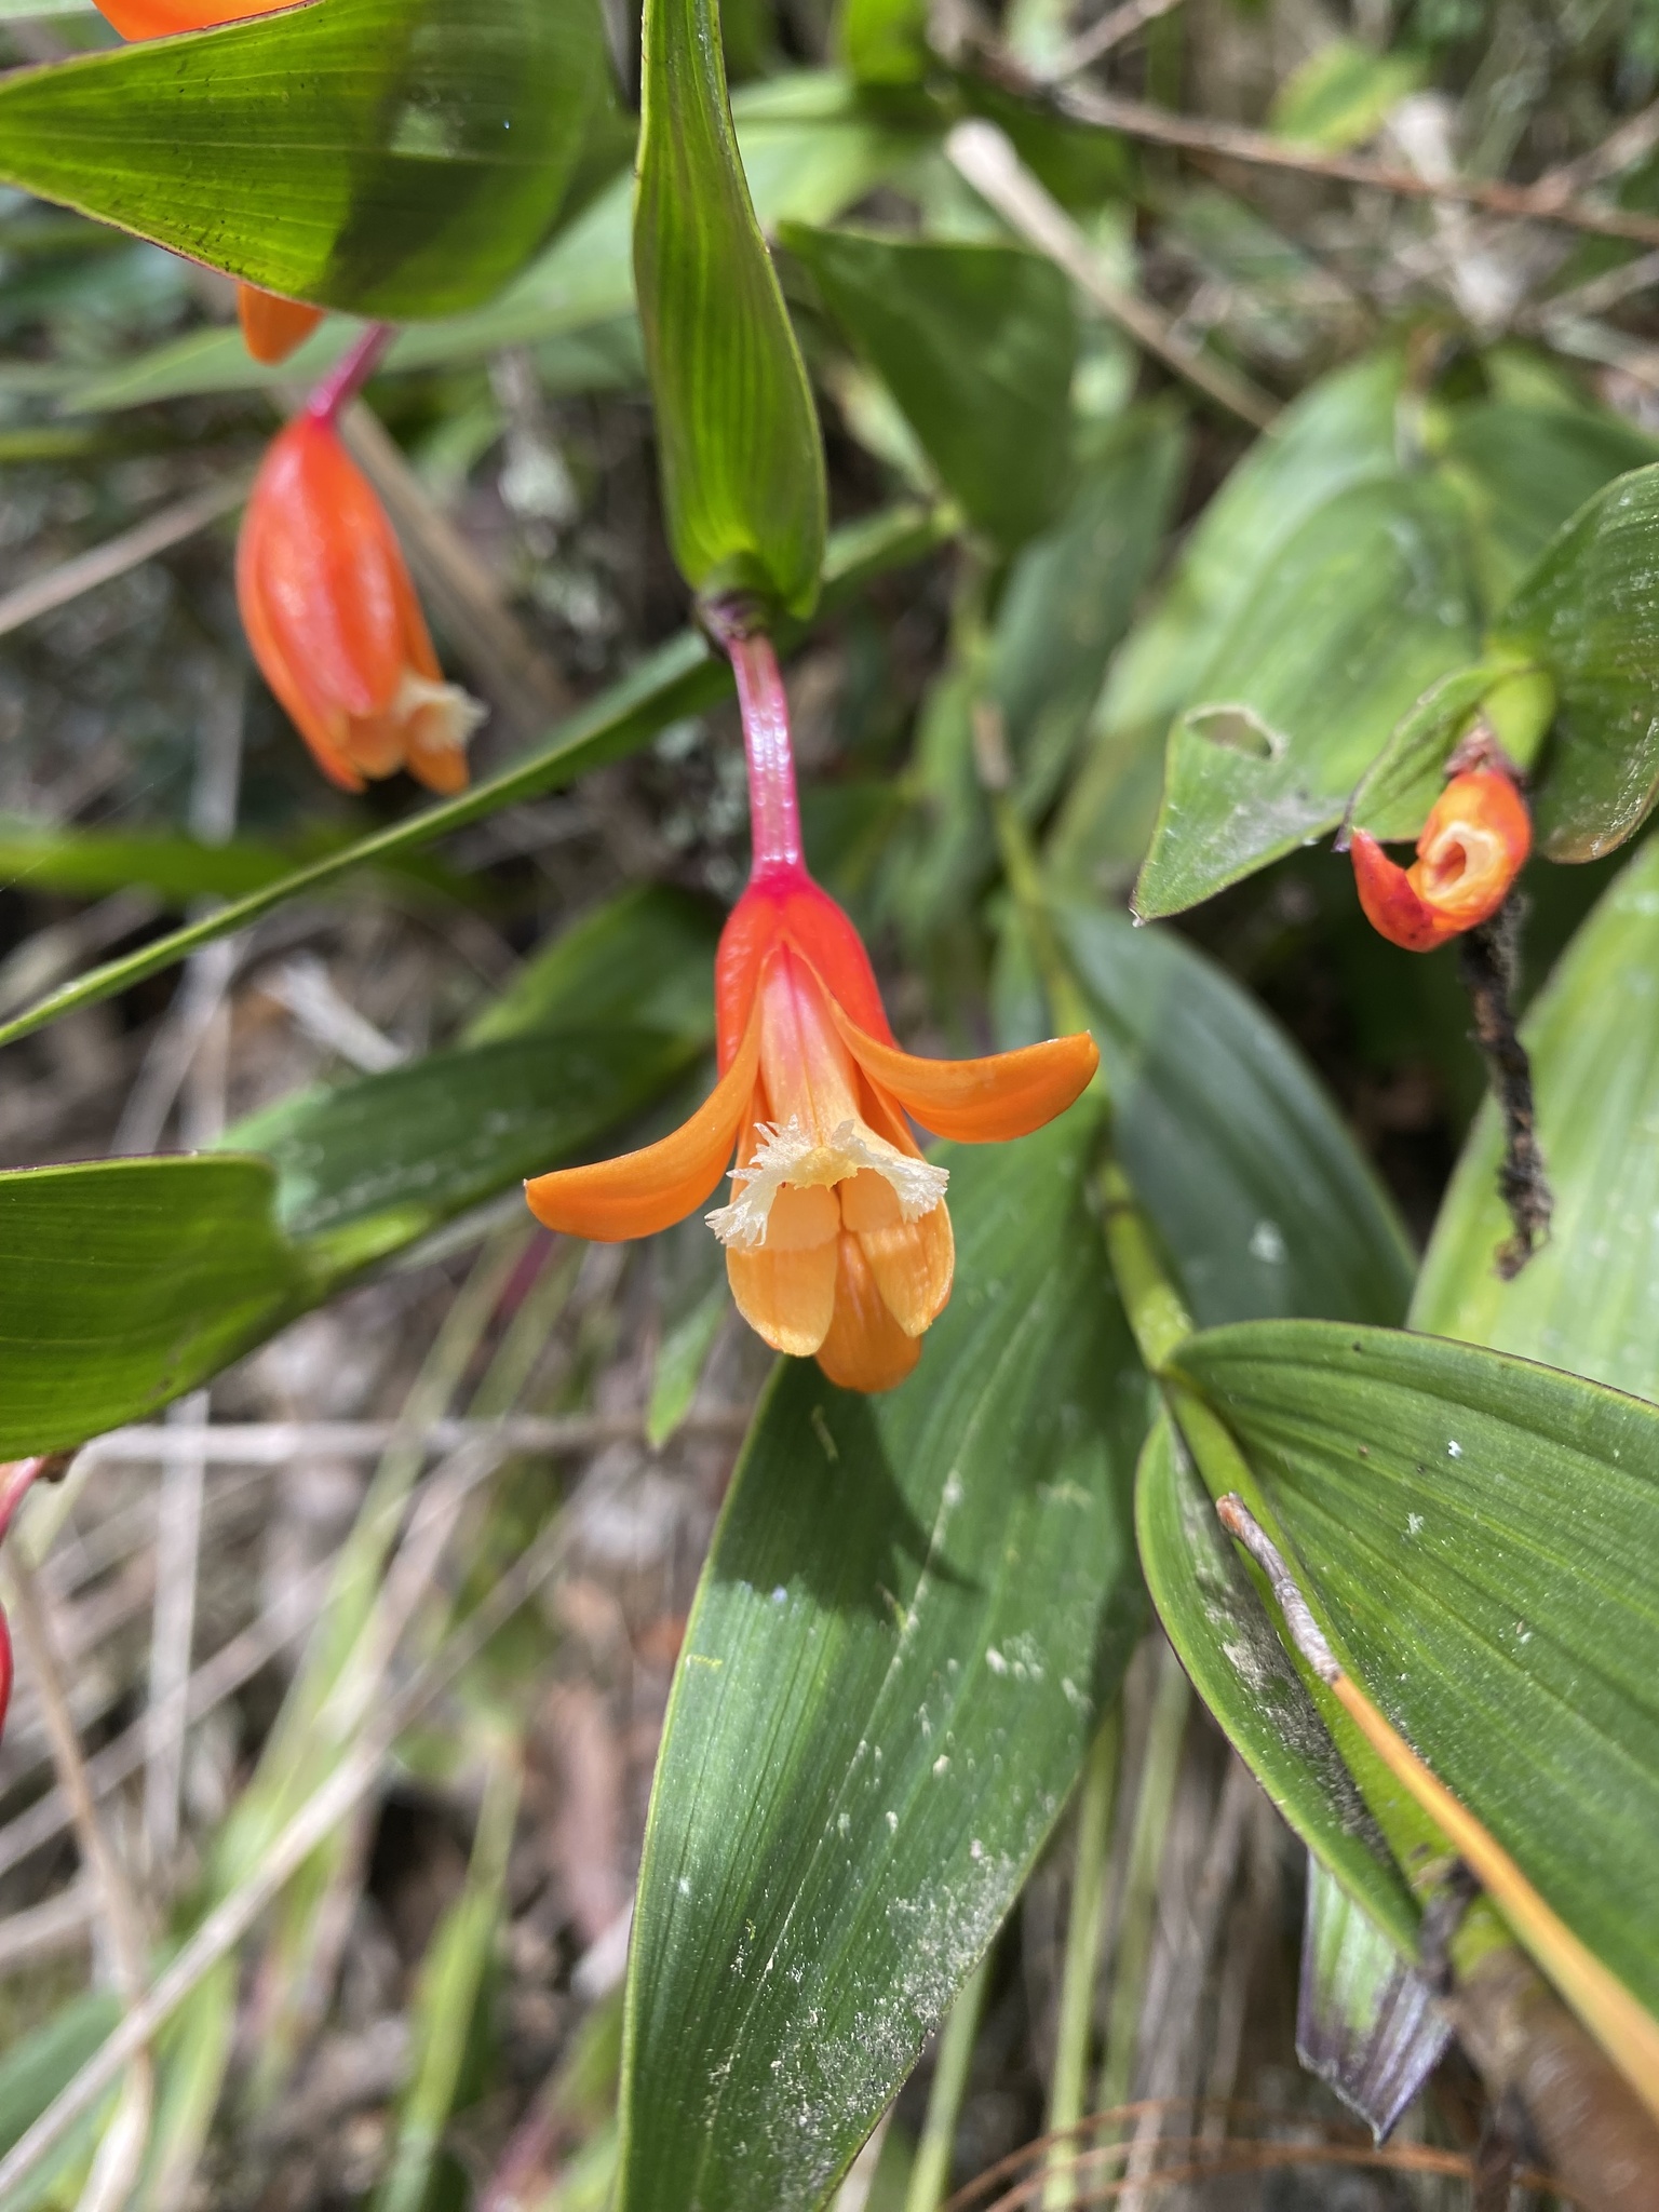
M 0 1175 L 0 1458 L 153 1413 L 307 1303 L 261 1159 Z

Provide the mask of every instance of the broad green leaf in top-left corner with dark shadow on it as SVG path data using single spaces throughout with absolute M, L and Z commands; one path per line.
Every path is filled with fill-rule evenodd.
M 316 0 L 0 82 L 0 177 L 292 299 L 471 307 L 611 97 L 595 0 Z

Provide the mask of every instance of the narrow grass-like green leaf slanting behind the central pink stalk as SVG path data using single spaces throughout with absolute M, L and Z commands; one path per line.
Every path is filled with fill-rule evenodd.
M 922 560 L 922 555 L 940 544 L 945 529 L 947 520 L 938 511 L 929 513 L 911 507 L 889 509 L 838 531 L 830 542 L 825 560 L 825 604 L 845 604 L 872 575 Z M 781 644 L 790 646 L 796 635 L 785 630 Z M 670 637 L 668 644 L 650 653 L 617 684 L 611 684 L 586 706 L 577 708 L 575 714 L 553 730 L 546 743 L 531 748 L 524 759 L 513 761 L 500 774 L 460 792 L 458 799 L 422 807 L 389 830 L 376 830 L 365 838 L 356 838 L 325 860 L 296 867 L 263 891 L 250 891 L 246 898 L 230 900 L 215 914 L 188 922 L 164 938 L 155 938 L 135 953 L 124 953 L 119 960 L 106 960 L 102 967 L 88 969 L 62 989 L 35 1000 L 33 1006 L 27 1006 L 11 1022 L 0 1024 L 0 1044 L 27 1037 L 75 1006 L 97 1004 L 97 1000 L 124 991 L 144 975 L 157 975 L 184 960 L 199 945 L 210 945 L 215 938 L 243 929 L 290 898 L 321 891 L 325 885 L 352 874 L 352 869 L 403 860 L 407 854 L 420 852 L 453 830 L 487 821 L 520 799 L 560 790 L 591 768 L 602 768 L 606 761 L 637 752 L 659 730 L 668 728 L 670 721 L 714 706 L 730 690 L 732 672 L 726 661 L 710 650 L 701 633 L 681 630 L 679 637 Z

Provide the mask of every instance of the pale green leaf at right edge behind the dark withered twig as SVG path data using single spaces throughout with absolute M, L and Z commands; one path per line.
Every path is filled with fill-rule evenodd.
M 1659 1398 L 1659 843 L 1573 938 L 1524 1026 L 1555 1221 L 1513 1283 L 1486 1102 L 1440 1208 L 1411 1325 Z

